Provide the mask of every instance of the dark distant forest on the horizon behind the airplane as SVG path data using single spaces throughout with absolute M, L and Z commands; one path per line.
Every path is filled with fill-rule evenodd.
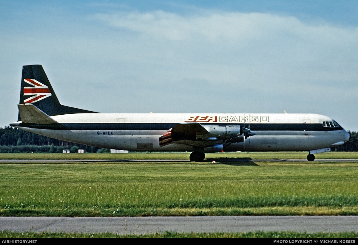
M 344 145 L 332 147 L 333 151 L 358 151 L 358 133 L 354 131 L 348 131 L 348 133 L 351 139 Z M 85 152 L 109 151 L 94 146 L 56 140 L 10 126 L 4 129 L 0 127 L 0 152 L 62 152 L 64 149 L 71 149 L 71 152 L 78 152 L 78 149 L 83 149 Z

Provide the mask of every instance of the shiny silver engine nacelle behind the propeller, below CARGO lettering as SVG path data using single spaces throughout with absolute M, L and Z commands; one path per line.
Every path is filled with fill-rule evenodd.
M 220 140 L 233 139 L 242 134 L 242 127 L 240 125 L 202 125 L 212 137 L 217 137 Z

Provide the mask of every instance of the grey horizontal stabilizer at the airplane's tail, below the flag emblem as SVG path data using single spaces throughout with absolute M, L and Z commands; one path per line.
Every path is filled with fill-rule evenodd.
M 33 104 L 20 104 L 18 107 L 22 122 L 36 124 L 52 124 L 57 122 Z

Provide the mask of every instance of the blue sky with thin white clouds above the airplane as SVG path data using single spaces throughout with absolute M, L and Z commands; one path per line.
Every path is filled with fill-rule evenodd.
M 2 1 L 0 126 L 23 65 L 99 112 L 316 113 L 358 131 L 357 1 Z

